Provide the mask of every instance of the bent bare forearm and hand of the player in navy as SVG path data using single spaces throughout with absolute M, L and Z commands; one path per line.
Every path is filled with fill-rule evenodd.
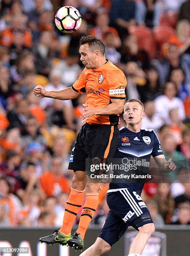
M 161 170 L 165 173 L 172 172 L 176 169 L 176 166 L 171 158 L 169 158 L 168 161 L 166 161 L 164 155 L 159 155 L 155 156 L 154 159 L 158 167 L 161 168 Z

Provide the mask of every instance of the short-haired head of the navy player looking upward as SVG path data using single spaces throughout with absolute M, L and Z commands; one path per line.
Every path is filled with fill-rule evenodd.
M 137 99 L 127 100 L 123 111 L 123 118 L 127 125 L 141 124 L 141 120 L 145 117 L 143 103 Z

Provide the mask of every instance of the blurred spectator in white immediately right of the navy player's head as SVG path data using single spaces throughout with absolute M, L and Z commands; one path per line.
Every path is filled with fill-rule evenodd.
M 154 129 L 155 133 L 158 133 L 160 127 L 164 124 L 164 121 L 160 116 L 155 113 L 155 107 L 153 101 L 147 101 L 144 105 L 145 118 L 142 119 L 142 127 L 146 129 Z

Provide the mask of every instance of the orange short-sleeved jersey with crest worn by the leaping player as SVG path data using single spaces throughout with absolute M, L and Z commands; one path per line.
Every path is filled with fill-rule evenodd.
M 127 80 L 124 73 L 112 62 L 106 61 L 99 69 L 85 68 L 72 89 L 87 93 L 86 104 L 102 108 L 112 103 L 111 99 L 125 99 Z M 119 115 L 92 115 L 88 124 L 117 125 Z

